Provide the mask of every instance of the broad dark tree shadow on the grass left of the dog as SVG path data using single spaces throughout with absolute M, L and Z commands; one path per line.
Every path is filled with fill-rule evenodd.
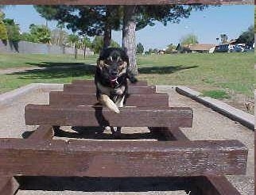
M 29 63 L 35 65 L 37 69 L 14 72 L 9 75 L 19 75 L 21 79 L 48 79 L 48 78 L 68 78 L 80 76 L 92 76 L 95 73 L 95 65 L 85 63 Z

